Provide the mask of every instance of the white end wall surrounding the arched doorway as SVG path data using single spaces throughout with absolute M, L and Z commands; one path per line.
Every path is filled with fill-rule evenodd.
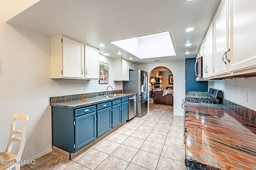
M 174 85 L 174 90 L 173 90 L 174 115 L 183 116 L 183 109 L 181 107 L 181 104 L 182 104 L 182 100 L 186 96 L 185 62 L 142 64 L 142 65 L 139 65 L 139 69 L 150 73 L 154 68 L 158 66 L 164 66 L 172 72 L 173 80 L 174 80 L 174 84 L 173 84 Z

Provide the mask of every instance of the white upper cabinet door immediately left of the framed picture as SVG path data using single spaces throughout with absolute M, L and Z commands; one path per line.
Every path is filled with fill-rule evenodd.
M 99 50 L 85 45 L 85 79 L 99 79 Z

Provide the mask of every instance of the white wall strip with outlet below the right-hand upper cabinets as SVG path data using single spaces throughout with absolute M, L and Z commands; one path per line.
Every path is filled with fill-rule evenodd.
M 209 88 L 222 90 L 225 99 L 256 110 L 256 77 L 241 80 L 209 81 L 208 89 Z M 244 91 L 248 91 L 248 102 L 244 102 Z

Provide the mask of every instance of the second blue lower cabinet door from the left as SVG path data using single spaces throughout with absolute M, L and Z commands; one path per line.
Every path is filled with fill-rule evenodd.
M 104 135 L 106 132 L 111 130 L 111 107 L 101 109 L 97 111 L 97 137 Z

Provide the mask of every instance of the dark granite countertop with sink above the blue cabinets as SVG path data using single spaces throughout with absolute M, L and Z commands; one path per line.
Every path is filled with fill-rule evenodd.
M 64 108 L 68 108 L 68 109 L 76 109 L 76 108 L 80 108 L 80 107 L 91 106 L 94 104 L 100 104 L 100 103 L 109 102 L 112 100 L 126 98 L 129 96 L 136 95 L 136 93 L 117 93 L 117 94 L 124 94 L 124 96 L 118 96 L 115 98 L 94 96 L 94 97 L 87 97 L 87 98 L 81 98 L 81 99 L 75 99 L 75 100 L 66 100 L 66 101 L 62 101 L 62 102 L 52 102 L 52 103 L 50 103 L 50 106 L 64 107 Z

